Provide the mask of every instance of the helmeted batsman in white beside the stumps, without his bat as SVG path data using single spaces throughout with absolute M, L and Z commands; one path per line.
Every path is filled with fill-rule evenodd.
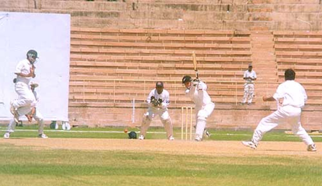
M 207 93 L 207 85 L 201 80 L 193 81 L 191 76 L 184 76 L 182 83 L 185 84 L 185 93 L 192 99 L 195 104 L 196 113 L 196 135 L 195 140 L 201 141 L 203 139 L 204 129 L 206 127 L 206 120 L 213 112 L 215 104 L 211 101 Z

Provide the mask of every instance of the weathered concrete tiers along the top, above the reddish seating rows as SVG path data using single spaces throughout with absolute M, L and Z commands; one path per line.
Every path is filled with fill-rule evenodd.
M 98 28 L 321 30 L 319 0 L 6 0 L 0 11 L 70 13 Z

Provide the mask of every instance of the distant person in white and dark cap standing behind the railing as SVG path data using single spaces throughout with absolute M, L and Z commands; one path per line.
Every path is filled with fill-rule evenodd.
M 254 97 L 254 80 L 257 79 L 256 72 L 253 71 L 253 65 L 248 65 L 248 70 L 244 72 L 244 80 L 246 80 L 246 83 L 244 84 L 244 96 L 242 99 L 242 104 L 245 104 L 247 101 L 248 105 L 251 105 L 251 102 L 253 101 Z

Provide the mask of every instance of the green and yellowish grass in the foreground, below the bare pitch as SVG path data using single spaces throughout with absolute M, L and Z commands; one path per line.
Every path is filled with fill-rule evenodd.
M 321 185 L 322 162 L 0 145 L 0 185 Z

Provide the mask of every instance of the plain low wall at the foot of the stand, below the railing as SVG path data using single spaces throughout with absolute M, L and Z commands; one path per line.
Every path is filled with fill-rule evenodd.
M 271 109 L 272 108 L 272 109 Z M 207 127 L 214 129 L 254 129 L 260 120 L 275 111 L 271 106 L 223 106 L 216 105 L 214 112 L 207 119 Z M 139 127 L 143 114 L 147 111 L 147 107 L 139 107 L 135 109 L 134 123 L 132 118 L 132 108 L 116 108 L 116 107 L 70 107 L 69 117 L 71 125 L 87 125 L 90 127 L 103 126 L 124 126 Z M 173 126 L 181 127 L 181 109 L 169 108 L 169 114 L 172 119 Z M 303 110 L 301 122 L 306 130 L 321 130 L 321 110 L 307 107 Z M 193 116 L 194 117 L 194 116 Z M 195 124 L 195 118 L 193 119 Z M 163 126 L 156 116 L 150 126 Z M 284 123 L 277 129 L 290 129 L 289 125 Z

